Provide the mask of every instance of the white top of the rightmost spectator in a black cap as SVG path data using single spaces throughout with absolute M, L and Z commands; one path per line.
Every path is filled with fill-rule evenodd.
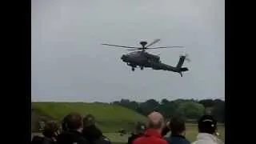
M 224 142 L 213 134 L 199 133 L 197 140 L 192 144 L 224 144 Z

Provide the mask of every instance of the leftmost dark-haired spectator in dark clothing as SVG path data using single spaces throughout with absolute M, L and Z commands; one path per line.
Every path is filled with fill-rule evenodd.
M 57 143 L 57 137 L 59 134 L 59 126 L 54 121 L 46 122 L 43 127 L 42 135 L 36 135 L 33 137 L 31 144 L 55 144 Z

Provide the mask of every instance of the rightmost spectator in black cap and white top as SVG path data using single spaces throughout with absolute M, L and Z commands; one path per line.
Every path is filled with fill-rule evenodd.
M 203 115 L 198 120 L 197 140 L 192 144 L 224 144 L 217 136 L 217 121 L 210 115 Z

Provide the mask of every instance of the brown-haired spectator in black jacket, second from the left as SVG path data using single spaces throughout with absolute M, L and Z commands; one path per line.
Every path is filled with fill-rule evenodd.
M 62 125 L 66 130 L 63 130 L 58 135 L 58 144 L 90 144 L 82 135 L 83 122 L 81 114 L 68 114 Z

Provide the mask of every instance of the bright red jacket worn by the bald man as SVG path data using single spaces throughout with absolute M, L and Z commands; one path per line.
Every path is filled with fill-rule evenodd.
M 162 135 L 158 130 L 148 129 L 145 134 L 134 140 L 133 144 L 168 144 L 166 140 L 162 138 Z

